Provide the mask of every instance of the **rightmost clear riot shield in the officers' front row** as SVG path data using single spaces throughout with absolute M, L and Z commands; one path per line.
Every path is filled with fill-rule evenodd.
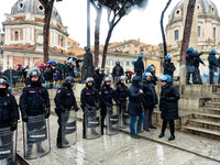
M 128 102 L 121 101 L 120 105 L 117 105 L 118 111 L 119 111 L 119 121 L 120 121 L 120 128 L 125 129 L 129 127 L 130 123 L 130 116 L 128 112 Z

